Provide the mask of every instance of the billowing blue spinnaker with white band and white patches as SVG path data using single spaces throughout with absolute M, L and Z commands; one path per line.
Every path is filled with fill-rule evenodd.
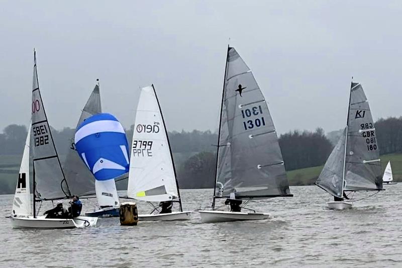
M 88 117 L 75 132 L 79 156 L 96 180 L 111 180 L 129 171 L 129 148 L 126 133 L 111 114 Z

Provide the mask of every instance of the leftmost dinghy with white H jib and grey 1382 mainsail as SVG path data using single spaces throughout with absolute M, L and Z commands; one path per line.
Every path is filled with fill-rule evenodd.
M 37 216 L 36 203 L 65 199 L 71 196 L 64 178 L 60 159 L 54 146 L 39 91 L 34 52 L 34 77 L 32 90 L 32 117 L 21 161 L 20 174 L 14 198 L 13 214 L 9 218 L 15 228 L 75 228 L 95 225 L 97 218 L 79 216 L 76 218 L 50 219 Z M 33 161 L 33 210 L 29 188 L 30 154 Z

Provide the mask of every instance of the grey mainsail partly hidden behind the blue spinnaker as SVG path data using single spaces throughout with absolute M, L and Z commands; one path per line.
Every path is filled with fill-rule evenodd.
M 82 110 L 77 127 L 88 117 L 99 113 L 102 113 L 102 106 L 100 104 L 99 86 L 95 85 Z M 75 150 L 74 135 L 70 138 L 70 144 L 63 167 L 71 194 L 92 195 L 95 193 L 95 178 Z

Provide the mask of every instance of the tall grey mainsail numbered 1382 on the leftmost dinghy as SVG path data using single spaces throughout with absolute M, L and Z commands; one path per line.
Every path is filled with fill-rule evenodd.
M 36 54 L 32 88 L 31 153 L 34 164 L 34 194 L 40 199 L 69 196 L 67 183 L 57 155 L 39 91 Z

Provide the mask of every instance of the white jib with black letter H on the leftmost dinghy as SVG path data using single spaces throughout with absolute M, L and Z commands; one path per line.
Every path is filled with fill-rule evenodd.
M 29 145 L 31 127 L 28 130 L 25 141 L 24 153 L 22 155 L 20 172 L 18 175 L 16 194 L 14 195 L 13 215 L 32 216 L 31 190 L 29 188 Z

